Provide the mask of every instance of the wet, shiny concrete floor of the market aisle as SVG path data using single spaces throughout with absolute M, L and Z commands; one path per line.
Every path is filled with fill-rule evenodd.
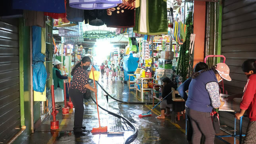
M 105 90 L 115 98 L 122 101 L 140 102 L 140 98 L 136 96 L 136 91 L 131 91 L 127 84 L 121 81 L 104 79 L 100 84 Z M 177 123 L 171 122 L 171 117 L 164 120 L 156 119 L 160 115 L 160 107 L 152 111 L 151 117 L 139 118 L 139 114 L 146 113 L 152 105 L 141 104 L 122 104 L 109 98 L 108 102 L 104 91 L 98 86 L 98 104 L 109 111 L 123 115 L 138 129 L 138 136 L 132 142 L 133 144 L 187 144 L 185 135 L 185 119 L 181 117 Z M 94 95 L 94 94 L 92 94 Z M 93 96 L 95 99 L 95 96 Z M 149 100 L 144 98 L 145 101 Z M 152 100 L 152 99 L 151 99 Z M 62 115 L 61 109 L 56 116 L 60 123 L 57 131 L 50 130 L 50 115 L 42 122 L 34 134 L 24 138 L 23 144 L 122 144 L 126 138 L 133 134 L 133 129 L 127 125 L 122 119 L 114 117 L 99 108 L 101 126 L 108 126 L 108 132 L 124 132 L 123 136 L 108 136 L 107 134 L 92 134 L 93 127 L 98 127 L 98 115 L 94 102 L 84 104 L 85 111 L 83 116 L 83 125 L 87 131 L 83 134 L 75 134 L 73 132 L 74 111 L 69 110 L 69 115 Z M 215 140 L 216 144 L 223 144 L 220 140 Z

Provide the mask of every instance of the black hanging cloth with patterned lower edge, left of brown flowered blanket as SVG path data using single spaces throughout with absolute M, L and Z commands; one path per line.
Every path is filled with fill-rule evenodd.
M 106 10 L 84 10 L 85 24 L 93 26 L 104 25 L 106 19 Z

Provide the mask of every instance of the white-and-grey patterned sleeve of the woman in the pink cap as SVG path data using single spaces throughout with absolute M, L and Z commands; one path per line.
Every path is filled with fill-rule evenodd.
M 221 105 L 219 98 L 219 84 L 216 82 L 210 82 L 206 84 L 206 90 L 209 93 L 212 107 L 219 108 L 219 106 Z

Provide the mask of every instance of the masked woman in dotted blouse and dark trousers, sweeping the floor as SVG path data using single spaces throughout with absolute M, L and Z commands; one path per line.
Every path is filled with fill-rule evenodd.
M 97 93 L 96 88 L 92 88 L 88 83 L 89 75 L 91 71 L 95 69 L 92 68 L 90 72 L 87 72 L 87 69 L 90 67 L 91 60 L 88 56 L 82 58 L 81 62 L 77 63 L 71 71 L 73 80 L 69 88 L 69 96 L 71 101 L 75 106 L 75 121 L 74 121 L 74 132 L 84 132 L 85 127 L 83 127 L 83 94 L 87 89 L 92 90 Z

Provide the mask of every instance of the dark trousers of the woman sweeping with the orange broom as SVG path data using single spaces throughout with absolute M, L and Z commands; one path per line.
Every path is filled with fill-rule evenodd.
M 74 129 L 81 128 L 83 125 L 83 114 L 85 109 L 83 104 L 83 93 L 77 89 L 69 89 L 69 96 L 75 106 Z

